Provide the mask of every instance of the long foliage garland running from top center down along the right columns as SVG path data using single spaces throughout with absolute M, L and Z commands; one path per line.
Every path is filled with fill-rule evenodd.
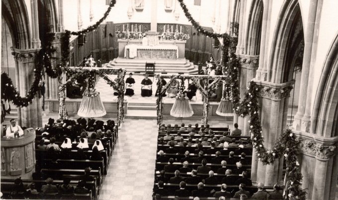
M 219 37 L 223 38 L 223 55 L 226 55 L 225 40 L 229 38 L 228 34 L 217 34 L 206 31 L 203 27 L 201 27 L 191 16 L 186 5 L 183 0 L 178 0 L 180 6 L 182 7 L 185 16 L 191 22 L 191 24 L 196 28 L 196 30 L 207 37 L 211 37 L 217 39 Z M 233 32 L 235 35 L 238 34 L 236 28 L 238 24 L 231 24 Z M 306 192 L 301 188 L 301 180 L 302 174 L 300 172 L 299 163 L 297 161 L 297 143 L 295 136 L 293 135 L 291 130 L 286 130 L 279 140 L 276 141 L 276 144 L 273 150 L 266 150 L 263 145 L 262 128 L 260 125 L 260 118 L 258 115 L 258 91 L 260 88 L 254 83 L 251 82 L 246 92 L 245 98 L 242 103 L 240 103 L 239 96 L 239 87 L 238 87 L 238 67 L 240 66 L 239 59 L 237 58 L 236 52 L 237 40 L 232 40 L 232 45 L 230 47 L 230 59 L 229 62 L 226 61 L 227 57 L 225 56 L 224 61 L 222 61 L 223 66 L 226 66 L 226 75 L 228 76 L 228 80 L 226 81 L 228 85 L 226 85 L 226 91 L 230 94 L 230 99 L 233 102 L 233 110 L 235 113 L 240 114 L 241 117 L 245 117 L 250 114 L 250 132 L 254 141 L 254 148 L 256 149 L 256 153 L 258 159 L 263 164 L 271 164 L 274 160 L 279 159 L 281 157 L 286 158 L 286 179 L 288 180 L 288 196 L 289 198 L 296 199 L 306 199 Z M 289 89 L 289 88 L 288 88 Z M 286 90 L 288 90 L 286 89 Z

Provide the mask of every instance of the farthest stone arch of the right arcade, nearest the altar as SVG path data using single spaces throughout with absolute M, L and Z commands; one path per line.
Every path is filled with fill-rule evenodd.
M 261 35 L 261 26 L 263 18 L 263 1 L 262 0 L 253 0 L 250 12 L 249 20 L 246 33 L 246 52 L 244 54 L 248 55 L 258 55 L 260 47 L 260 35 Z

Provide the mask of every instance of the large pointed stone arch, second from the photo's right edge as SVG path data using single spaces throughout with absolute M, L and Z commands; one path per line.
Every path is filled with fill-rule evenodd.
M 279 17 L 271 44 L 267 81 L 272 83 L 283 83 L 290 81 L 290 71 L 293 70 L 287 60 L 288 51 L 295 47 L 297 35 L 304 38 L 302 14 L 298 0 L 285 0 Z M 300 25 L 301 29 L 297 29 Z M 296 33 L 296 32 L 300 33 Z M 299 44 L 298 44 L 299 45 Z

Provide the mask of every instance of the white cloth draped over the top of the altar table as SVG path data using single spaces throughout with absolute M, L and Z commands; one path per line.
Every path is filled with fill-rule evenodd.
M 129 58 L 137 57 L 137 50 L 176 50 L 176 58 L 178 58 L 178 47 L 176 45 L 126 45 L 124 48 L 124 57 L 127 57 L 127 50 L 129 50 Z

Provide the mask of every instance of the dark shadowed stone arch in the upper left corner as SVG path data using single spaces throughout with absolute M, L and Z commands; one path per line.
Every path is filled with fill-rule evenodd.
M 30 49 L 29 18 L 24 0 L 2 0 L 1 11 L 12 36 L 13 48 Z

